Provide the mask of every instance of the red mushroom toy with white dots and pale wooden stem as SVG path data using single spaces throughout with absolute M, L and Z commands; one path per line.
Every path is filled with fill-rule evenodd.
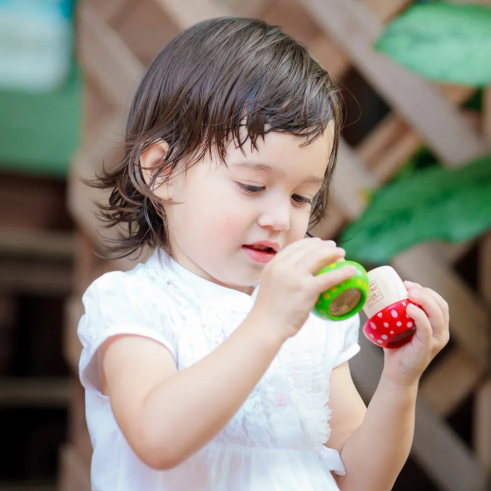
M 369 294 L 363 307 L 368 321 L 365 336 L 382 348 L 399 348 L 408 343 L 416 330 L 414 320 L 406 313 L 410 303 L 408 290 L 390 266 L 381 266 L 367 273 Z

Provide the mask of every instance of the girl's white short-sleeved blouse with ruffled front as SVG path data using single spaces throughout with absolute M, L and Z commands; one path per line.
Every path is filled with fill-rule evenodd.
M 289 338 L 227 426 L 170 470 L 143 464 L 101 394 L 97 349 L 110 336 L 136 334 L 162 343 L 184 370 L 209 354 L 250 311 L 252 296 L 201 278 L 155 252 L 132 271 L 106 273 L 83 295 L 78 335 L 80 379 L 94 452 L 96 491 L 335 491 L 344 474 L 330 434 L 329 376 L 359 350 L 359 317 L 339 322 L 310 315 Z M 254 356 L 251 353 L 251 356 Z

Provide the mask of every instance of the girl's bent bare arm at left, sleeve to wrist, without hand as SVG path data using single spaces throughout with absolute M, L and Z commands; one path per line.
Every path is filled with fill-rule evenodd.
M 156 341 L 110 338 L 99 352 L 114 417 L 147 465 L 172 468 L 215 436 L 244 403 L 283 339 L 249 315 L 213 353 L 182 372 Z

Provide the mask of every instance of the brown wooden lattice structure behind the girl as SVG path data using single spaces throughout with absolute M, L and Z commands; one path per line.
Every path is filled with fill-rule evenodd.
M 461 109 L 469 87 L 441 85 L 410 74 L 371 46 L 383 24 L 410 0 L 81 0 L 78 52 L 86 82 L 83 144 L 72 168 L 69 206 L 79 226 L 74 297 L 67 305 L 66 357 L 78 369 L 76 327 L 81 295 L 109 269 L 132 267 L 130 260 L 106 263 L 92 249 L 101 224 L 94 215 L 94 191 L 80 182 L 110 163 L 120 141 L 128 101 L 149 61 L 180 30 L 206 18 L 240 15 L 279 24 L 303 42 L 334 80 L 352 68 L 390 105 L 391 111 L 355 147 L 341 141 L 334 199 L 315 229 L 334 237 L 365 208 L 367 191 L 382 186 L 425 143 L 449 167 L 491 149 L 491 87 L 475 123 Z M 475 115 L 474 115 L 475 116 Z M 342 190 L 342 191 L 341 191 Z M 479 291 L 467 286 L 454 264 L 476 242 L 422 244 L 393 258 L 404 278 L 437 290 L 451 309 L 451 349 L 421 382 L 412 457 L 441 491 L 484 491 L 491 470 L 491 235 L 478 240 Z M 381 352 L 361 339 L 352 361 L 355 382 L 368 400 L 382 369 Z M 473 394 L 474 436 L 466 445 L 446 417 Z M 60 488 L 89 490 L 91 454 L 83 418 L 83 393 L 74 394 L 71 443 L 62 451 Z

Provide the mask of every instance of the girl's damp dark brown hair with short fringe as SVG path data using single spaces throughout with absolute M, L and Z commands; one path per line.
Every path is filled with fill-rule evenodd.
M 308 144 L 331 121 L 334 143 L 311 224 L 326 209 L 340 129 L 337 90 L 326 70 L 280 27 L 260 20 L 218 18 L 186 29 L 154 59 L 136 90 L 122 159 L 91 183 L 112 190 L 109 203 L 98 205 L 108 227 L 126 225 L 110 249 L 117 257 L 143 246 L 171 253 L 162 203 L 151 191 L 159 177 L 186 171 L 212 149 L 223 161 L 231 139 L 257 148 L 259 137 L 281 132 L 306 136 Z M 148 186 L 140 155 L 159 140 L 169 149 Z

